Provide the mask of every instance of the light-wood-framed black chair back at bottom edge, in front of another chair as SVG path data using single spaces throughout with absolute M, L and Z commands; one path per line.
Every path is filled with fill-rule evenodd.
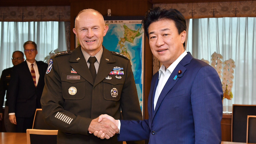
M 27 129 L 27 144 L 57 144 L 58 130 Z

